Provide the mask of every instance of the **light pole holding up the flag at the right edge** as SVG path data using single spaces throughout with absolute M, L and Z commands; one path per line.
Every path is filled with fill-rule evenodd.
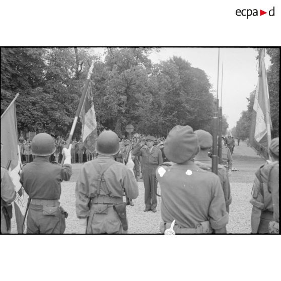
M 268 156 L 269 156 L 269 146 L 271 143 L 271 129 L 270 129 L 270 110 L 269 110 L 269 93 L 267 89 L 267 79 L 266 79 L 266 69 L 264 63 L 265 48 L 263 48 L 261 53 L 261 77 L 262 77 L 262 88 L 265 95 L 265 124 L 266 124 L 266 134 L 267 134 L 267 146 L 268 146 Z M 270 156 L 269 156 L 270 157 Z

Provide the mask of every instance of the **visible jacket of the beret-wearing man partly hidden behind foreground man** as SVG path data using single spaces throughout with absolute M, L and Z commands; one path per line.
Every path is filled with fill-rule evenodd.
M 208 156 L 196 156 L 195 161 L 195 164 L 198 165 L 198 167 L 200 167 L 201 169 L 212 172 L 212 159 L 210 159 Z M 224 191 L 226 209 L 229 213 L 229 205 L 232 202 L 229 177 L 226 168 L 220 164 L 218 165 L 218 176 L 220 178 L 220 182 Z

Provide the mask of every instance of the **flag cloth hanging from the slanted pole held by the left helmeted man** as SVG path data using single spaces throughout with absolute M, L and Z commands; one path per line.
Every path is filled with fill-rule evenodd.
M 94 153 L 98 133 L 91 81 L 89 83 L 85 101 L 82 105 L 80 119 L 82 123 L 82 142 L 86 149 L 90 150 L 91 153 Z

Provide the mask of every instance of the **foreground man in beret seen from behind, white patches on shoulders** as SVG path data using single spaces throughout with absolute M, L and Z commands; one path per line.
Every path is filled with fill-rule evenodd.
M 228 213 L 219 177 L 194 164 L 198 139 L 190 126 L 169 132 L 164 152 L 176 164 L 156 171 L 161 186 L 161 233 L 226 233 Z

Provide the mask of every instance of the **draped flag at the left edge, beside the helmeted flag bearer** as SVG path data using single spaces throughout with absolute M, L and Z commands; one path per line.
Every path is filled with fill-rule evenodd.
M 14 208 L 17 230 L 18 233 L 22 233 L 26 205 L 24 202 L 24 189 L 20 183 L 22 163 L 20 148 L 18 146 L 16 105 L 14 101 L 1 116 L 1 143 L 4 146 L 1 152 L 1 165 L 7 167 L 8 163 L 11 161 L 8 171 L 16 187 Z

